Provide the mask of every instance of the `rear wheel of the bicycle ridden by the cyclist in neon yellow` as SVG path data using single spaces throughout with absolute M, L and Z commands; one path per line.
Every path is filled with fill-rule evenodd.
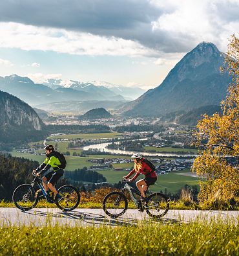
M 58 189 L 62 198 L 56 201 L 56 205 L 63 211 L 72 211 L 79 205 L 80 195 L 76 187 L 64 185 Z

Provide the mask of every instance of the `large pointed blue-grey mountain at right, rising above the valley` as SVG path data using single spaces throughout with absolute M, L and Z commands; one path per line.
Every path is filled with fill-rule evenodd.
M 220 73 L 224 56 L 216 45 L 203 41 L 175 65 L 160 86 L 125 104 L 121 112 L 160 116 L 219 105 L 231 82 L 229 75 Z

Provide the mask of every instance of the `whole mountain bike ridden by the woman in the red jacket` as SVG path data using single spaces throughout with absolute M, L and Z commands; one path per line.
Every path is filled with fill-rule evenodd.
M 152 218 L 161 218 L 167 211 L 169 211 L 170 200 L 165 194 L 159 192 L 152 193 L 147 197 L 147 202 L 144 202 L 145 204 L 143 204 L 140 200 L 137 200 L 134 195 L 141 196 L 140 191 L 131 187 L 128 180 L 122 181 L 125 182 L 125 185 L 121 188 L 120 192 L 109 192 L 103 199 L 103 210 L 108 216 L 117 218 L 125 213 L 128 207 L 128 200 L 124 194 L 125 191 L 129 191 L 130 197 L 136 207 L 138 209 L 143 207 L 143 211 L 145 210 Z

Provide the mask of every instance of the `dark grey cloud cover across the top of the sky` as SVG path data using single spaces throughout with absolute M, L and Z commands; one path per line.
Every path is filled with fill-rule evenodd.
M 189 51 L 196 45 L 187 31 L 152 31 L 152 21 L 174 12 L 173 8 L 160 9 L 147 0 L 1 0 L 0 21 L 116 36 L 163 52 Z M 213 9 L 224 22 L 238 19 L 236 4 L 214 3 Z M 220 29 L 216 23 L 214 26 L 215 30 Z

